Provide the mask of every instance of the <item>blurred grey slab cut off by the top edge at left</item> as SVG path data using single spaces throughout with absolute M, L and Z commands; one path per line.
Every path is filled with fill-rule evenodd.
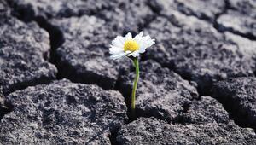
M 24 15 L 21 16 L 43 16 L 44 18 L 52 17 L 70 17 L 79 16 L 81 14 L 94 14 L 104 9 L 114 9 L 114 7 L 121 7 L 125 1 L 112 0 L 105 2 L 101 0 L 10 0 L 11 6 L 16 11 L 22 11 Z M 54 3 L 54 4 L 53 4 Z M 26 18 L 31 19 L 31 18 Z

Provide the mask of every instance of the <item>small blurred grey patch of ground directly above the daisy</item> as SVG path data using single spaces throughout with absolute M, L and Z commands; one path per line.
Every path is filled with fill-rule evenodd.
M 157 16 L 154 9 L 149 6 L 149 2 L 148 0 L 125 0 L 122 8 L 115 9 L 113 12 L 104 11 L 98 17 L 107 20 L 108 23 L 112 22 L 113 28 L 120 32 L 138 33 Z

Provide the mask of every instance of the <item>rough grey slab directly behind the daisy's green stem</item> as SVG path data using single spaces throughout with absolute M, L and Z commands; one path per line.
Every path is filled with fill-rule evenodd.
M 130 69 L 123 70 L 121 74 L 120 84 L 117 86 L 130 101 L 134 69 L 130 67 Z M 170 122 L 183 112 L 183 106 L 196 98 L 198 95 L 195 87 L 183 80 L 177 73 L 161 68 L 160 64 L 154 61 L 141 63 L 136 102 L 139 116 L 153 115 Z

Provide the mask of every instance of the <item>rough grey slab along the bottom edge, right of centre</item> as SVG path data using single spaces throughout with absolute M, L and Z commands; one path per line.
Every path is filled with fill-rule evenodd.
M 122 126 L 119 144 L 254 144 L 252 129 L 234 123 L 207 125 L 172 125 L 154 118 L 141 118 Z

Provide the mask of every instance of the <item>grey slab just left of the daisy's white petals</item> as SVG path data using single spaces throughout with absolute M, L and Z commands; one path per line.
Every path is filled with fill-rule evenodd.
M 131 65 L 127 58 L 113 61 L 109 57 L 109 45 L 119 35 L 111 28 L 111 22 L 84 15 L 51 23 L 65 38 L 65 43 L 56 49 L 57 67 L 62 77 L 112 89 L 119 77 L 119 67 Z

